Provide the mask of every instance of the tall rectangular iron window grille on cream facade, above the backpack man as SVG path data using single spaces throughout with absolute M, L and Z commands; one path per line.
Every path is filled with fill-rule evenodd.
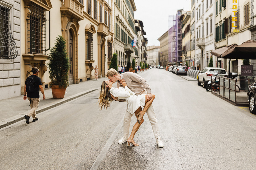
M 28 53 L 45 54 L 45 9 L 31 2 L 28 20 Z

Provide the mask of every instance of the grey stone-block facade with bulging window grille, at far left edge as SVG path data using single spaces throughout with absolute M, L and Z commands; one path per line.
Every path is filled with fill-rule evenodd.
M 20 95 L 20 0 L 0 0 L 0 100 Z

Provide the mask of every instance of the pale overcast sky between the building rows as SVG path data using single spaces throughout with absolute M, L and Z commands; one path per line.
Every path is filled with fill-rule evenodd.
M 189 11 L 190 0 L 134 0 L 137 10 L 134 19 L 144 25 L 148 45 L 160 45 L 157 40 L 168 30 L 169 15 L 176 15 L 178 9 Z

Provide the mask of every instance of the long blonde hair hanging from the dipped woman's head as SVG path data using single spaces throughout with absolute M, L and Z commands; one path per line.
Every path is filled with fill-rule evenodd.
M 103 81 L 101 84 L 100 97 L 99 97 L 100 110 L 102 110 L 102 107 L 104 109 L 107 109 L 110 106 L 110 103 L 114 100 L 110 95 L 110 89 L 106 87 L 106 85 L 107 83 L 105 83 L 105 81 Z

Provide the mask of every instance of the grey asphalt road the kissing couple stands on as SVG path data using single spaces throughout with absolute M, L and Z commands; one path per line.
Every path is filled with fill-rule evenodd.
M 156 95 L 164 148 L 146 115 L 140 146 L 117 144 L 127 104 L 100 111 L 97 90 L 0 129 L 0 169 L 256 169 L 256 115 L 166 70 L 139 75 Z

